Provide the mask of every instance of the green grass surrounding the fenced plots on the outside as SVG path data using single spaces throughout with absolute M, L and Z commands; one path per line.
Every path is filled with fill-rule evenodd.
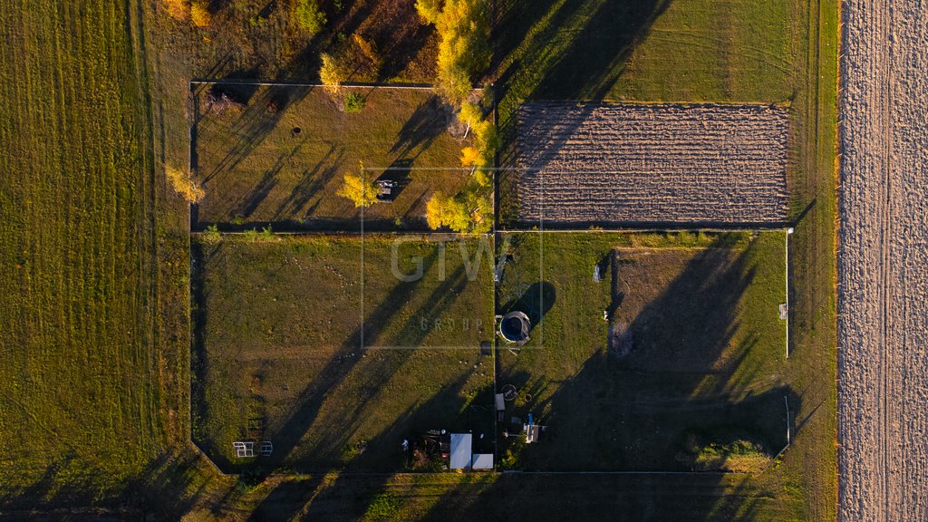
M 368 67 L 354 79 L 431 81 L 434 33 L 410 23 L 408 8 L 396 19 L 389 4 L 346 3 L 343 11 L 326 4 L 329 25 L 316 39 L 294 32 L 288 2 L 254 25 L 267 5 L 224 4 L 228 11 L 207 29 L 171 20 L 160 2 L 20 2 L 0 15 L 0 289 L 7 296 L 0 436 L 12 441 L 0 457 L 0 505 L 118 501 L 130 509 L 122 517 L 165 520 L 834 519 L 839 6 L 831 0 L 678 0 L 638 4 L 640 14 L 602 0 L 496 3 L 501 41 L 491 78 L 504 125 L 522 99 L 559 93 L 791 103 L 791 191 L 801 219 L 790 257 L 793 354 L 784 372 L 802 396 L 802 427 L 767 473 L 330 474 L 254 486 L 196 458 L 151 463 L 183 451 L 190 431 L 187 206 L 160 176 L 161 163 L 188 158 L 189 78 L 305 80 L 319 49 L 354 46 L 352 33 L 367 28 L 375 40 L 402 36 L 381 42 L 390 67 Z M 635 46 L 624 44 L 629 35 Z M 147 92 L 138 78 L 148 79 Z

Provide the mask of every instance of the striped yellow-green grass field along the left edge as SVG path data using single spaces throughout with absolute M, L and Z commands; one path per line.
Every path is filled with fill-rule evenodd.
M 126 8 L 0 10 L 0 506 L 106 502 L 164 449 Z

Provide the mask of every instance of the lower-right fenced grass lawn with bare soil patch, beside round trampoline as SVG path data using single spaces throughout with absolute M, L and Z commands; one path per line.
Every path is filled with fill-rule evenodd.
M 531 411 L 548 433 L 525 445 L 510 426 L 520 437 L 502 440 L 504 463 L 690 470 L 688 437 L 777 453 L 784 396 L 797 406 L 783 380 L 784 235 L 505 234 L 498 312 L 534 328 L 500 350 L 498 385 L 520 390 L 507 419 Z

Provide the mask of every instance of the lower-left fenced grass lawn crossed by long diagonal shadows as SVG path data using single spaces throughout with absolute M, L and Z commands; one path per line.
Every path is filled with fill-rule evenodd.
M 243 439 L 274 443 L 257 464 L 310 471 L 406 469 L 402 440 L 432 428 L 492 448 L 479 242 L 467 256 L 405 236 L 198 243 L 195 440 L 229 469 L 248 463 L 232 451 Z

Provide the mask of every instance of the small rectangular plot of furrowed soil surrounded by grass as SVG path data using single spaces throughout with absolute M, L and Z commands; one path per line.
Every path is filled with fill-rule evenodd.
M 782 222 L 788 131 L 772 106 L 527 103 L 518 220 Z

